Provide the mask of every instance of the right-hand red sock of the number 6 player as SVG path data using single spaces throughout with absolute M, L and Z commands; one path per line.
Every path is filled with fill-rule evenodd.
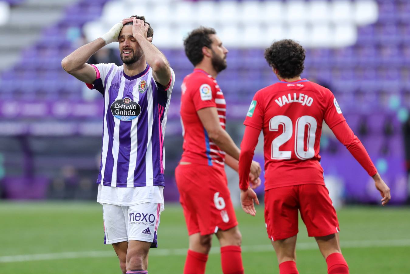
M 241 247 L 222 246 L 221 264 L 223 274 L 243 274 L 244 266 L 242 265 Z

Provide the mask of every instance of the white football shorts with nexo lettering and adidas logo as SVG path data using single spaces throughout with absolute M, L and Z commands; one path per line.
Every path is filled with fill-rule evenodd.
M 150 242 L 158 247 L 157 229 L 160 219 L 160 203 L 142 203 L 124 206 L 102 203 L 104 218 L 104 244 L 129 240 Z

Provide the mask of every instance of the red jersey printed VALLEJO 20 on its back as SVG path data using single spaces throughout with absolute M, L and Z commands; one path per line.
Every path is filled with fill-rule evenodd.
M 319 145 L 323 120 L 330 128 L 345 121 L 330 90 L 306 79 L 259 90 L 244 124 L 263 130 L 265 190 L 323 184 Z

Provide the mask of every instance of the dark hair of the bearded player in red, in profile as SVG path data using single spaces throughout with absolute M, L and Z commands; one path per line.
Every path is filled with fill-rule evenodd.
M 211 48 L 211 34 L 216 34 L 216 31 L 213 28 L 205 28 L 201 26 L 191 31 L 187 38 L 185 38 L 185 54 L 194 66 L 199 64 L 204 58 L 202 48 L 204 46 Z

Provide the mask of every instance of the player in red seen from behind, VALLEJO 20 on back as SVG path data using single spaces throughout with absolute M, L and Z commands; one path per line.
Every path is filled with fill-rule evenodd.
M 310 237 L 326 259 L 328 274 L 347 274 L 339 245 L 339 223 L 323 180 L 319 143 L 323 120 L 373 177 L 382 205 L 390 189 L 378 174 L 360 140 L 353 134 L 335 96 L 302 79 L 305 50 L 292 40 L 273 43 L 265 58 L 279 82 L 256 92 L 246 115 L 239 177 L 241 204 L 255 215 L 257 198 L 248 187 L 249 168 L 260 131 L 264 134 L 265 223 L 278 257 L 280 274 L 297 274 L 298 210 Z

